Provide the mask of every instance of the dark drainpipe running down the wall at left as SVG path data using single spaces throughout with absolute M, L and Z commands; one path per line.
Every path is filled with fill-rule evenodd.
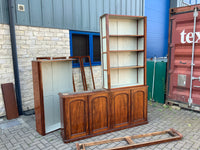
M 10 40 L 11 40 L 11 47 L 12 47 L 12 61 L 13 61 L 14 78 L 15 78 L 15 93 L 16 93 L 19 115 L 23 115 L 22 101 L 21 101 L 21 90 L 20 90 L 20 80 L 19 80 L 19 68 L 18 68 L 18 60 L 17 60 L 14 8 L 15 8 L 14 0 L 8 0 Z

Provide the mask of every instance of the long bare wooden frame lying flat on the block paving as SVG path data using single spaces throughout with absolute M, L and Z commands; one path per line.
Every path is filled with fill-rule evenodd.
M 162 135 L 162 134 L 169 134 L 172 137 L 165 138 L 165 139 L 159 139 L 159 140 L 155 140 L 155 141 L 149 141 L 149 142 L 141 142 L 141 143 L 134 143 L 134 141 L 132 140 L 132 139 L 138 139 L 138 138 L 144 138 L 144 137 L 156 136 L 156 135 Z M 76 148 L 77 148 L 77 150 L 85 150 L 86 147 L 89 147 L 89 146 L 101 145 L 101 144 L 107 144 L 107 143 L 113 143 L 113 142 L 119 142 L 119 141 L 125 140 L 128 143 L 128 145 L 108 148 L 108 149 L 104 149 L 104 150 L 127 150 L 127 149 L 131 149 L 131 148 L 139 148 L 139 147 L 150 146 L 150 145 L 154 145 L 154 144 L 160 144 L 160 143 L 165 143 L 165 142 L 181 140 L 182 137 L 183 137 L 182 134 L 180 134 L 178 131 L 171 128 L 169 130 L 160 131 L 160 132 L 126 136 L 126 137 L 114 138 L 114 139 L 110 139 L 110 140 L 96 141 L 96 142 L 83 143 L 83 144 L 76 143 Z

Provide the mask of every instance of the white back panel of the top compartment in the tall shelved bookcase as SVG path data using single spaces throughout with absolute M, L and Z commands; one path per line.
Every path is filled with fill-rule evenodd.
M 137 20 L 109 19 L 109 35 L 137 35 Z

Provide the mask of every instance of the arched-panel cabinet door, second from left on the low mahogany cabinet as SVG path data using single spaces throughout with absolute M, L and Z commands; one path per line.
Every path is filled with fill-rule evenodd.
M 108 93 L 89 96 L 90 134 L 110 129 L 110 100 Z

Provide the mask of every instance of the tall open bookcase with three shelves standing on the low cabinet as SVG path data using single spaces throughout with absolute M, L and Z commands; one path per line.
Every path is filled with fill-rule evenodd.
M 146 17 L 100 18 L 103 88 L 146 85 Z

